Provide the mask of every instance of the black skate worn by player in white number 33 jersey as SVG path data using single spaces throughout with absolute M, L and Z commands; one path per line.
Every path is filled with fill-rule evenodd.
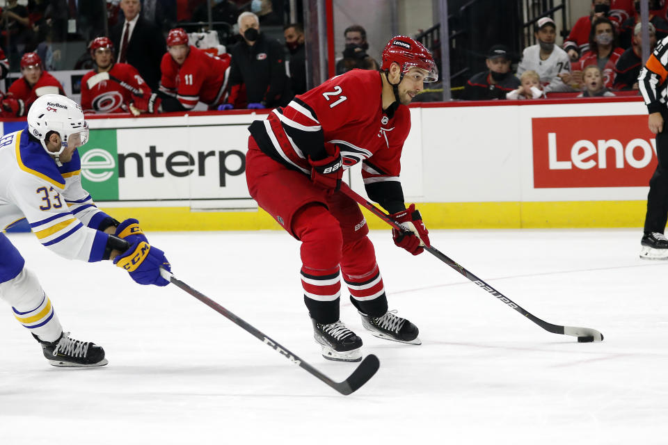
M 42 341 L 33 334 L 42 345 L 42 353 L 53 366 L 73 366 L 88 368 L 104 366 L 109 363 L 104 358 L 104 349 L 95 343 L 70 339 L 70 332 L 63 332 L 56 341 Z

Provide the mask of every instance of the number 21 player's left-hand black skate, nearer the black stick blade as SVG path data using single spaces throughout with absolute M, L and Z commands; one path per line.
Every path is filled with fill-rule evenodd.
M 322 346 L 322 356 L 335 362 L 359 362 L 362 359 L 362 339 L 341 321 L 321 325 L 311 318 L 313 337 Z

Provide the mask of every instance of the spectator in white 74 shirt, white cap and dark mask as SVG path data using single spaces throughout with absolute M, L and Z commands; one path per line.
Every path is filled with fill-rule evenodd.
M 571 75 L 571 62 L 568 54 L 555 45 L 557 38 L 557 25 L 550 17 L 541 17 L 535 25 L 534 35 L 537 44 L 524 49 L 522 60 L 517 66 L 517 75 L 521 76 L 527 70 L 533 70 L 540 76 L 543 90 L 570 91 L 571 87 L 562 80 L 567 81 Z

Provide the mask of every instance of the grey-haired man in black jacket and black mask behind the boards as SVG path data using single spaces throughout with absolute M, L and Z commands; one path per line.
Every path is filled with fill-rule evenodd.
M 290 79 L 285 74 L 285 53 L 278 40 L 260 33 L 260 22 L 253 13 L 241 13 L 237 19 L 243 38 L 230 50 L 230 97 L 221 109 L 274 108 L 292 100 Z M 240 98 L 241 87 L 246 88 L 246 101 Z M 247 104 L 246 104 L 247 102 Z

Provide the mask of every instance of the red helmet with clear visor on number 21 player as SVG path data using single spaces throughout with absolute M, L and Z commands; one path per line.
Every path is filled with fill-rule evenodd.
M 406 35 L 397 35 L 385 45 L 381 71 L 389 71 L 392 63 L 397 63 L 401 67 L 401 74 L 406 74 L 412 67 L 417 67 L 427 72 L 427 76 L 424 77 L 425 82 L 438 81 L 434 56 L 422 43 Z

